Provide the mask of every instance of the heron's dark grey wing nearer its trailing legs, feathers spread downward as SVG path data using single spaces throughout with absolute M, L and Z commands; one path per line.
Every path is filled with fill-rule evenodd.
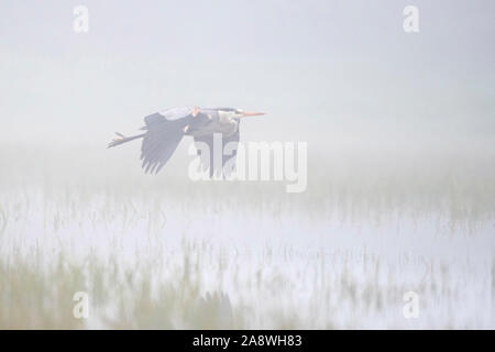
M 142 167 L 145 173 L 158 173 L 174 154 L 184 136 L 184 128 L 189 124 L 193 116 L 183 111 L 182 117 L 169 120 L 161 113 L 153 113 L 144 118 L 147 130 L 141 146 Z

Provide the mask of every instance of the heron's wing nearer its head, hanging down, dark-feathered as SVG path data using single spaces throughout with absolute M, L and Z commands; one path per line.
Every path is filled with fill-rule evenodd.
M 213 175 L 222 175 L 222 176 L 229 176 L 235 168 L 235 157 L 238 155 L 238 145 L 239 145 L 239 128 L 238 130 L 230 134 L 230 135 L 222 135 L 222 134 L 218 134 L 219 136 L 221 135 L 222 139 L 222 147 L 223 150 L 216 150 L 215 148 L 215 135 L 213 133 L 211 134 L 205 134 L 205 135 L 200 135 L 200 136 L 195 136 L 195 143 L 201 142 L 205 143 L 206 145 L 208 145 L 208 151 L 209 151 L 209 155 L 202 155 L 201 152 L 204 151 L 202 147 L 200 147 L 197 144 L 198 147 L 198 156 L 200 157 L 201 161 L 201 167 L 204 170 L 209 169 L 210 170 L 210 177 L 212 177 Z M 233 143 L 229 144 L 229 153 L 230 155 L 226 155 L 226 145 L 228 145 L 228 143 Z M 232 147 L 233 146 L 233 147 Z M 215 155 L 219 153 L 218 155 L 218 161 L 219 162 L 215 162 Z M 233 158 L 233 162 L 229 163 L 228 167 L 228 162 L 231 161 Z M 220 165 L 218 165 L 220 164 Z

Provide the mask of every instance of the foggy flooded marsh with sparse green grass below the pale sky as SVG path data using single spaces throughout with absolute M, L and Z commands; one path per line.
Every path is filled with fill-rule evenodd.
M 2 148 L 0 328 L 494 327 L 490 153 L 314 154 L 304 194 L 134 157 Z

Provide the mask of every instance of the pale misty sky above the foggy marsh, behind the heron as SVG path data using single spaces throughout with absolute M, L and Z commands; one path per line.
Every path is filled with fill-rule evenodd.
M 73 31 L 75 6 L 89 32 Z M 419 33 L 403 30 L 406 6 Z M 255 141 L 495 140 L 494 1 L 2 1 L 6 141 L 106 145 L 166 107 Z M 493 144 L 491 144 L 493 145 Z

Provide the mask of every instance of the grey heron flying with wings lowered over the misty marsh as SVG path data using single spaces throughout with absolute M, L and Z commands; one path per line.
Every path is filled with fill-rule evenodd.
M 264 112 L 243 111 L 235 108 L 170 108 L 155 112 L 144 118 L 143 133 L 125 136 L 116 132 L 108 147 L 113 147 L 134 140 L 142 139 L 141 161 L 142 168 L 147 174 L 157 174 L 174 154 L 185 135 L 193 136 L 195 144 L 205 143 L 209 155 L 201 155 L 204 148 L 198 148 L 204 169 L 209 169 L 210 177 L 215 174 L 224 175 L 223 166 L 231 160 L 235 165 L 237 145 L 240 141 L 239 127 L 244 117 L 262 116 Z M 220 134 L 222 145 L 234 143 L 234 150 L 230 155 L 223 155 L 223 151 L 215 151 L 215 134 Z M 221 153 L 221 165 L 215 165 L 213 154 Z

